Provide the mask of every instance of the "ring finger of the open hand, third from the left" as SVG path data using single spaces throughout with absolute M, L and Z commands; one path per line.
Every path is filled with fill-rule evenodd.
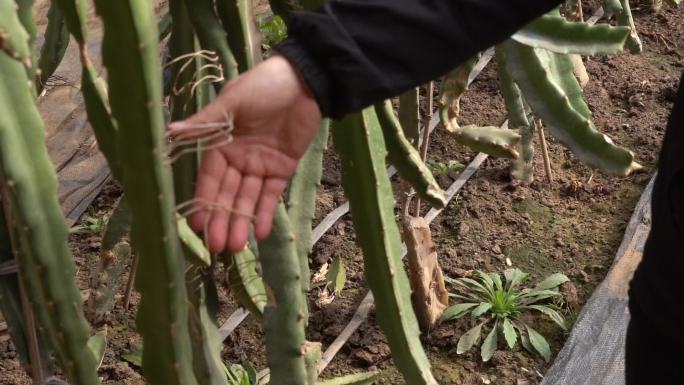
M 240 183 L 240 190 L 235 198 L 234 212 L 230 221 L 228 235 L 228 250 L 238 252 L 245 247 L 252 222 L 252 213 L 259 199 L 263 178 L 254 175 L 244 175 Z

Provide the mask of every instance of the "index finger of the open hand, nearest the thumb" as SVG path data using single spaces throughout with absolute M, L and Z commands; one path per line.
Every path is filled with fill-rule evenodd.
M 226 172 L 226 159 L 218 150 L 204 152 L 202 165 L 197 176 L 195 188 L 195 203 L 190 218 L 190 226 L 195 231 L 203 231 L 211 216 L 211 208 L 206 207 L 208 202 L 215 202 L 221 188 L 221 182 Z

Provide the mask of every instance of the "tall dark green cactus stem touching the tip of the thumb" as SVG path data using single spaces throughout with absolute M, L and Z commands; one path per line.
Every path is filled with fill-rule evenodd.
M 137 325 L 151 384 L 194 385 L 184 261 L 176 230 L 173 185 L 164 165 L 164 119 L 157 25 L 141 0 L 95 2 L 104 24 L 103 61 L 117 151 L 131 208 L 131 241 L 139 254 Z

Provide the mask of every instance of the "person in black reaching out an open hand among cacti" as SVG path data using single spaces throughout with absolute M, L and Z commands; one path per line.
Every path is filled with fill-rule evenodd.
M 171 131 L 234 116 L 232 143 L 205 152 L 196 197 L 211 251 L 236 252 L 249 226 L 268 236 L 275 208 L 323 116 L 340 118 L 437 78 L 501 42 L 559 0 L 336 0 L 298 12 L 277 54 L 224 87 Z M 679 91 L 653 191 L 652 231 L 630 290 L 627 383 L 681 383 L 684 323 L 684 90 Z

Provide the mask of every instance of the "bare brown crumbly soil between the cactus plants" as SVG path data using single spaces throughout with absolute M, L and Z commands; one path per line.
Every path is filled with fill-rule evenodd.
M 539 154 L 535 158 L 536 181 L 528 187 L 511 183 L 508 161 L 488 159 L 431 226 L 446 275 L 459 277 L 473 269 L 500 272 L 508 268 L 509 262 L 529 272 L 533 280 L 562 272 L 571 278 L 577 289 L 573 301 L 579 306 L 603 280 L 633 207 L 655 171 L 668 112 L 684 68 L 684 8 L 664 9 L 659 14 L 647 12 L 645 5 L 641 8 L 635 7 L 634 14 L 644 42 L 644 53 L 585 59 L 591 79 L 585 97 L 599 130 L 617 144 L 634 151 L 644 170 L 628 177 L 609 177 L 594 172 L 549 135 L 551 182 L 545 179 Z M 585 13 L 590 14 L 593 9 L 595 5 L 585 5 Z M 504 111 L 495 63 L 491 63 L 462 102 L 462 122 L 498 125 L 505 119 Z M 539 148 L 538 143 L 536 147 Z M 436 130 L 431 139 L 430 160 L 442 163 L 458 160 L 467 164 L 474 155 L 442 129 Z M 324 168 L 316 222 L 345 201 L 334 151 L 326 153 Z M 445 188 L 452 182 L 449 176 L 439 179 Z M 88 216 L 105 216 L 120 194 L 116 185 L 108 185 Z M 88 272 L 97 263 L 100 242 L 98 232 L 75 234 L 70 239 L 82 289 L 88 287 Z M 338 256 L 344 259 L 347 269 L 347 284 L 342 293 L 324 306 L 316 304 L 317 289 L 313 289 L 309 297 L 308 339 L 321 341 L 324 348 L 339 335 L 367 291 L 363 259 L 354 243 L 348 216 L 315 245 L 312 270 L 316 271 Z M 220 282 L 222 309 L 219 321 L 223 322 L 236 309 L 236 304 L 223 284 L 223 272 L 217 271 L 216 277 Z M 119 298 L 114 310 L 94 325 L 98 329 L 106 325 L 108 331 L 108 345 L 100 371 L 104 384 L 144 383 L 139 368 L 122 358 L 139 343 L 134 332 L 137 300 L 134 294 L 131 309 L 126 312 Z M 566 316 L 572 319 L 576 311 L 568 310 Z M 540 318 L 531 322 L 548 337 L 553 353 L 557 353 L 566 332 Z M 440 383 L 523 385 L 540 382 L 549 364 L 519 348 L 500 350 L 488 363 L 480 362 L 478 349 L 457 355 L 458 338 L 470 326 L 473 326 L 470 319 L 449 322 L 423 337 L 433 372 Z M 265 352 L 259 323 L 248 318 L 227 338 L 223 353 L 226 362 L 246 359 L 264 368 Z M 322 377 L 365 370 L 380 370 L 381 384 L 403 383 L 372 313 Z M 0 333 L 0 372 L 3 384 L 29 383 L 6 332 Z

